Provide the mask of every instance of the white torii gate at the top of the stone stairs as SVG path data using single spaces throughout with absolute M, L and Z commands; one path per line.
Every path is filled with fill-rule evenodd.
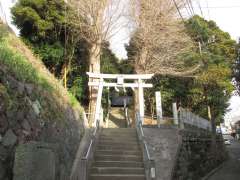
M 144 93 L 143 88 L 152 88 L 152 84 L 144 83 L 144 80 L 151 79 L 154 74 L 97 74 L 87 72 L 89 79 L 98 79 L 98 81 L 89 81 L 88 85 L 98 87 L 97 103 L 95 108 L 95 116 L 93 126 L 96 126 L 97 120 L 100 120 L 101 100 L 103 87 L 114 88 L 138 88 L 138 105 L 139 114 L 143 121 L 144 119 Z M 115 79 L 115 83 L 105 82 L 104 79 Z M 125 83 L 124 80 L 133 80 L 133 83 Z M 137 82 L 136 82 L 137 81 Z

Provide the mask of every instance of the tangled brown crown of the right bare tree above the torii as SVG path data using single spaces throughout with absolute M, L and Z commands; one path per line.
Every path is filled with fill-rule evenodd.
M 178 55 L 191 50 L 192 40 L 179 18 L 182 0 L 131 0 L 131 18 L 136 31 L 132 38 L 137 73 L 191 74 Z

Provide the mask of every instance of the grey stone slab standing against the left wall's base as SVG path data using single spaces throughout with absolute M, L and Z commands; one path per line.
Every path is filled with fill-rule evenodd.
M 54 146 L 30 142 L 16 148 L 13 180 L 55 180 Z

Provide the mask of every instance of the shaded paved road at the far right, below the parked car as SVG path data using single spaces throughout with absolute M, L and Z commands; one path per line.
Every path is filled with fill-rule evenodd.
M 240 180 L 240 142 L 227 146 L 230 158 L 208 180 Z

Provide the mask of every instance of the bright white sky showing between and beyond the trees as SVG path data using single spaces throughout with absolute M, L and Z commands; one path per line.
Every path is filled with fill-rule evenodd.
M 3 12 L 6 14 L 8 24 L 18 32 L 16 27 L 11 25 L 10 7 L 15 0 L 0 0 L 2 9 L 0 16 L 4 18 Z M 199 8 L 199 5 L 201 8 Z M 229 32 L 232 39 L 237 40 L 240 37 L 240 0 L 193 0 L 194 13 L 203 16 L 205 19 L 214 20 L 217 25 L 224 31 Z M 190 12 L 185 10 L 185 16 Z M 123 20 L 124 21 L 124 20 Z M 127 58 L 127 53 L 124 45 L 129 42 L 130 31 L 127 28 L 122 28 L 116 36 L 110 40 L 112 51 L 120 59 Z M 240 97 L 232 96 L 229 101 L 229 112 L 225 115 L 225 120 L 228 121 L 232 117 L 240 116 Z

